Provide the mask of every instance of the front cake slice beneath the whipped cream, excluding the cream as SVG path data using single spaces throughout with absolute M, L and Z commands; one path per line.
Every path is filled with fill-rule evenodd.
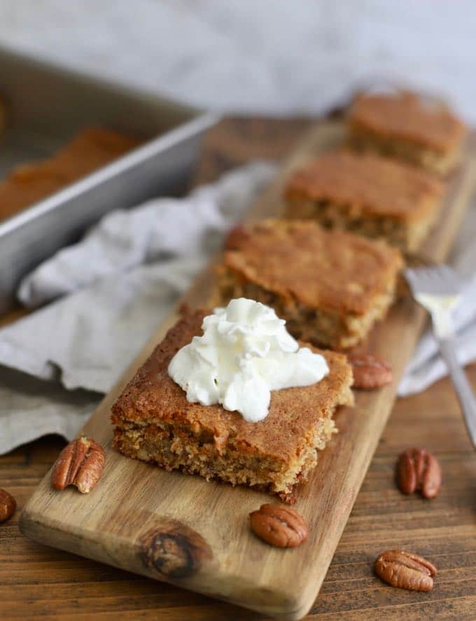
M 114 447 L 166 470 L 248 485 L 292 502 L 336 431 L 336 407 L 353 403 L 351 367 L 342 354 L 320 351 L 329 374 L 311 386 L 272 391 L 269 414 L 259 422 L 221 405 L 189 403 L 167 368 L 202 334 L 205 314 L 186 312 L 127 384 L 112 408 Z

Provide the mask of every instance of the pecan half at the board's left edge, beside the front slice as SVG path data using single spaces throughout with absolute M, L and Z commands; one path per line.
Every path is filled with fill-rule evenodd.
M 87 494 L 99 481 L 104 466 L 102 446 L 92 438 L 77 438 L 64 447 L 51 473 L 52 486 L 64 489 L 75 485 L 81 494 Z

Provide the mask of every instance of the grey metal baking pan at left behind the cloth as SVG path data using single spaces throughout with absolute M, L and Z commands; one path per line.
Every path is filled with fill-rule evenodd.
M 0 48 L 0 95 L 8 127 L 0 136 L 0 177 L 48 157 L 92 125 L 146 142 L 111 164 L 0 221 L 0 312 L 21 277 L 106 211 L 176 193 L 197 158 L 200 136 L 218 118 L 123 85 L 99 81 Z

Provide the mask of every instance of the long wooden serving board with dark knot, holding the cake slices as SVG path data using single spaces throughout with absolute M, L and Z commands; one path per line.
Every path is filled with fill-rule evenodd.
M 341 139 L 338 123 L 318 125 L 283 165 L 250 217 L 279 215 L 281 190 L 290 171 Z M 447 257 L 475 179 L 476 160 L 468 151 L 449 182 L 440 223 L 422 249 L 428 258 Z M 213 286 L 211 266 L 181 302 L 204 305 Z M 309 538 L 288 550 L 270 547 L 249 529 L 248 512 L 269 501 L 266 494 L 167 473 L 111 448 L 111 405 L 176 317 L 174 310 L 81 431 L 106 448 L 106 465 L 97 487 L 87 495 L 74 488 L 57 492 L 48 473 L 22 512 L 20 528 L 41 543 L 267 615 L 300 619 L 321 587 L 425 315 L 412 300 L 403 298 L 372 331 L 366 347 L 391 361 L 395 382 L 379 391 L 358 392 L 356 407 L 337 413 L 339 434 L 321 453 L 295 505 L 309 524 Z

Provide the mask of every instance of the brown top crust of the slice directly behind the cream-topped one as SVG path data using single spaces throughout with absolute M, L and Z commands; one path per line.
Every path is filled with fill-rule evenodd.
M 402 261 L 385 242 L 298 220 L 248 225 L 224 260 L 290 304 L 356 314 L 367 312 Z

